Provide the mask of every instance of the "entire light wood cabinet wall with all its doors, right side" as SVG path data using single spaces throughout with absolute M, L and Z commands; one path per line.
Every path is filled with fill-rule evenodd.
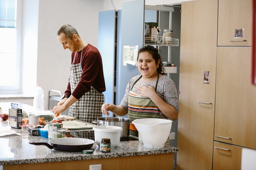
M 182 3 L 177 170 L 240 169 L 241 148 L 256 149 L 251 13 L 250 0 Z

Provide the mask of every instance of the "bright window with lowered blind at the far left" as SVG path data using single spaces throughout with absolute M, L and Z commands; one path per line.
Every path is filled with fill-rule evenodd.
M 20 93 L 17 0 L 0 0 L 0 94 Z

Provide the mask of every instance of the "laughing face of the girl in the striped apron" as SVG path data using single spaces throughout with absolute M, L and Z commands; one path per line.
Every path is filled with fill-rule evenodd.
M 155 78 L 158 74 L 157 68 L 159 66 L 160 59 L 156 63 L 152 55 L 147 51 L 140 53 L 138 57 L 138 70 L 144 78 Z

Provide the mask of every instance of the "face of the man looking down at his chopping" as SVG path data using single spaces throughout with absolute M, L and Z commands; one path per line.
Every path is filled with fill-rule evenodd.
M 64 33 L 60 33 L 60 35 L 57 36 L 59 42 L 62 44 L 64 50 L 69 49 L 72 53 L 74 53 L 77 49 L 76 39 L 73 35 L 73 38 L 67 38 Z

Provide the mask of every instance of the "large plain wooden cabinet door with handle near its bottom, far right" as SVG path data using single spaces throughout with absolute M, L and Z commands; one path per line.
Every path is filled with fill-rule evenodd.
M 214 140 L 256 149 L 256 86 L 250 81 L 251 49 L 217 49 Z

